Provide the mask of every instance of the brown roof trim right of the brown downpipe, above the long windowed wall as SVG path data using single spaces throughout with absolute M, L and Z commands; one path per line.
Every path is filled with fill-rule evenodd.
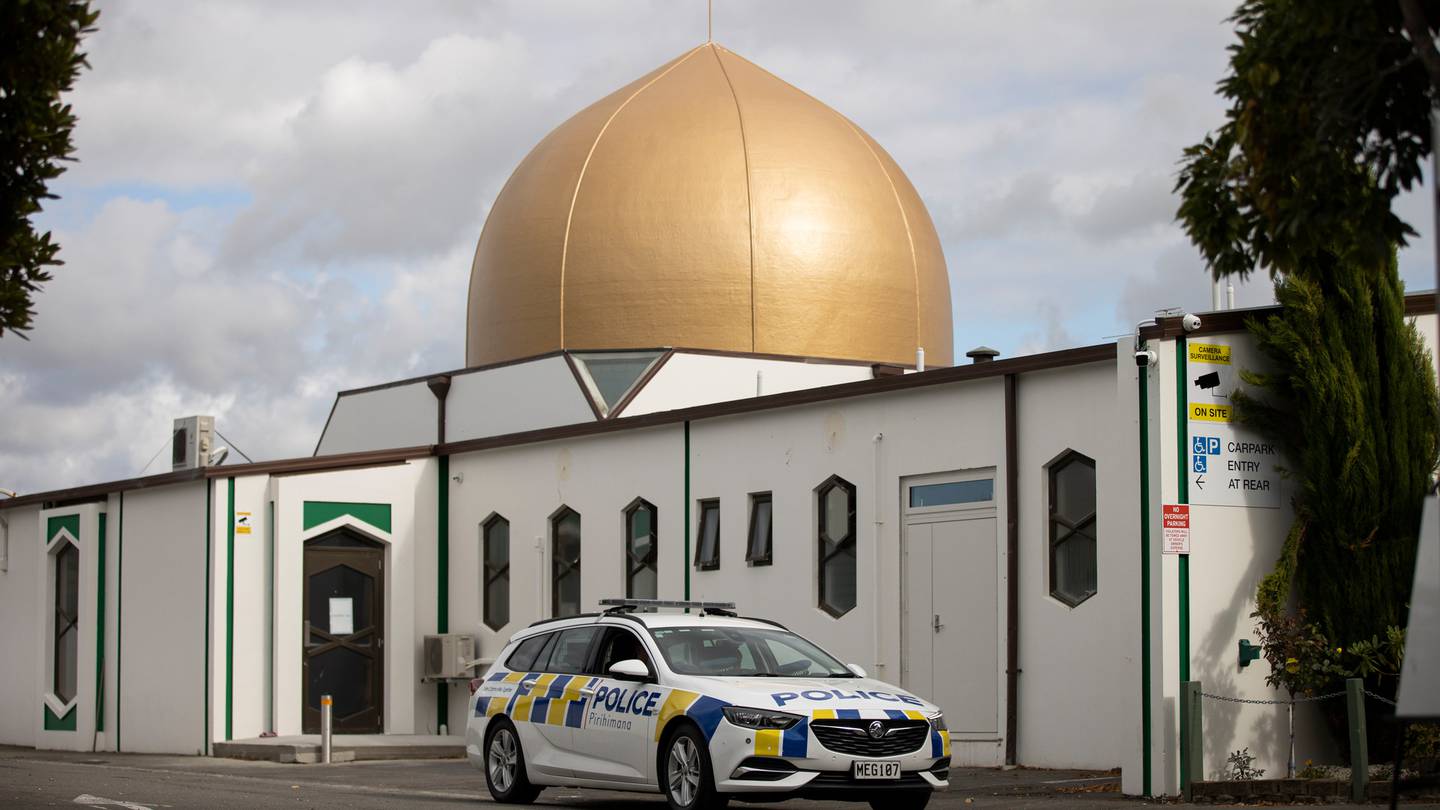
M 678 350 L 677 350 L 678 352 Z M 732 399 L 727 402 L 713 402 L 683 408 L 678 411 L 660 411 L 657 414 L 642 414 L 638 417 L 622 417 L 618 419 L 603 419 L 598 422 L 580 422 L 575 425 L 560 425 L 517 434 L 505 434 L 484 438 L 471 438 L 442 444 L 436 453 L 454 455 L 475 450 L 492 450 L 497 447 L 514 447 L 520 444 L 534 444 L 540 441 L 554 441 L 563 438 L 579 438 L 586 435 L 608 434 L 625 430 L 644 430 L 660 425 L 671 425 L 685 421 L 713 419 L 717 417 L 733 417 L 755 411 L 770 411 L 775 408 L 792 408 L 814 402 L 829 402 L 834 399 L 848 399 L 852 396 L 868 396 L 873 393 L 887 393 L 891 391 L 907 391 L 912 388 L 926 388 L 952 382 L 966 382 L 972 379 L 998 378 L 1007 373 L 1027 373 L 1066 366 L 1080 366 L 1087 363 L 1115 362 L 1115 344 L 1100 343 L 1080 349 L 1064 349 L 1061 352 L 1045 352 L 1043 355 L 1028 355 L 995 360 L 992 363 L 972 363 L 968 366 L 949 366 L 927 372 L 903 376 L 861 379 L 842 382 L 824 388 L 806 388 L 801 391 L 786 391 L 769 396 L 752 396 L 746 399 Z

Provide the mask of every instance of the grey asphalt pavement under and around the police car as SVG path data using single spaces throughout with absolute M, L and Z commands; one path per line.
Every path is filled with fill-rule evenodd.
M 1096 771 L 956 768 L 935 809 L 1139 807 L 1119 775 Z M 0 747 L 0 807 L 253 809 L 498 807 L 484 777 L 462 760 L 282 765 L 200 757 L 72 754 Z M 547 788 L 539 807 L 654 809 L 660 794 Z M 844 801 L 732 803 L 732 807 L 819 810 L 865 807 Z

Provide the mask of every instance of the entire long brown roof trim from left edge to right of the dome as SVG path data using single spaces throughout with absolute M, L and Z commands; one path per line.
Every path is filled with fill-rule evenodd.
M 677 352 L 681 350 L 677 349 Z M 240 476 L 266 476 L 266 474 L 282 476 L 291 473 L 315 473 L 323 470 L 379 467 L 386 464 L 410 461 L 415 458 L 426 458 L 431 455 L 452 455 L 456 453 L 490 450 L 495 447 L 513 447 L 520 444 L 534 444 L 540 441 L 554 441 L 562 438 L 577 438 L 585 435 L 608 434 L 626 430 L 644 430 L 651 427 L 678 424 L 687 419 L 713 419 L 717 417 L 732 417 L 755 411 L 770 411 L 775 408 L 792 408 L 796 405 L 829 402 L 835 399 L 848 399 L 852 396 L 868 396 L 871 393 L 888 393 L 893 391 L 907 391 L 912 388 L 927 388 L 933 385 L 946 385 L 946 383 L 966 382 L 973 379 L 998 378 L 1009 373 L 1020 375 L 1028 372 L 1041 372 L 1048 369 L 1061 369 L 1067 366 L 1081 366 L 1087 363 L 1102 363 L 1113 360 L 1115 360 L 1115 344 L 1099 343 L 1096 346 L 1083 346 L 1079 349 L 1064 349 L 1060 352 L 1045 352 L 1043 355 L 1009 357 L 1005 360 L 995 360 L 992 363 L 972 363 L 966 366 L 949 366 L 949 368 L 933 369 L 919 373 L 909 373 L 901 376 L 861 379 L 855 382 L 844 382 L 840 385 L 828 385 L 824 388 L 788 391 L 783 393 L 772 393 L 769 396 L 753 396 L 746 399 L 734 399 L 730 402 L 697 405 L 694 408 L 684 408 L 680 411 L 661 411 L 658 414 L 642 414 L 639 417 L 622 417 L 616 419 L 579 422 L 556 428 L 541 428 L 537 431 L 526 431 L 526 432 L 507 434 L 498 437 L 472 438 L 441 445 L 422 444 L 416 447 L 402 447 L 395 450 L 369 450 L 363 453 L 343 453 L 337 455 L 307 455 L 301 458 L 285 458 L 279 461 L 256 461 L 252 464 L 232 464 L 228 467 L 203 467 L 197 470 L 180 470 L 177 473 L 164 473 L 160 476 L 148 476 L 144 479 L 127 479 L 121 481 L 91 484 L 68 490 L 50 490 L 43 493 L 24 494 L 20 497 L 0 500 L 0 509 L 14 509 L 20 506 L 29 506 L 52 500 L 86 499 L 122 490 L 124 491 L 140 490 L 147 487 L 196 481 L 200 479 L 228 479 L 232 476 L 240 477 Z M 431 376 L 435 375 L 428 375 L 426 378 L 420 379 L 422 380 L 429 379 Z

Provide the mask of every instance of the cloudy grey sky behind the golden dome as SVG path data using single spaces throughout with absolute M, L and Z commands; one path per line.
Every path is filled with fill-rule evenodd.
M 99 0 L 66 265 L 0 340 L 0 487 L 164 471 L 171 418 L 314 450 L 334 392 L 464 365 L 471 252 L 552 127 L 706 35 L 704 0 Z M 1210 287 L 1174 225 L 1234 0 L 716 0 L 716 40 L 896 157 L 955 344 L 1100 342 Z M 903 9 L 903 12 L 900 12 Z M 1423 238 L 1403 255 L 1430 288 Z M 1248 285 L 1240 303 L 1269 303 Z M 150 463 L 147 468 L 147 463 Z

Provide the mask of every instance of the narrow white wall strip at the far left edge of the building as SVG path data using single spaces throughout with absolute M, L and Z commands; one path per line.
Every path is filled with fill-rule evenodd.
M 40 509 L 0 512 L 0 545 L 9 542 L 7 571 L 0 571 L 0 744 L 35 745 L 40 682 L 35 651 L 45 643 L 35 614 L 43 579 L 35 572 L 45 555 Z

